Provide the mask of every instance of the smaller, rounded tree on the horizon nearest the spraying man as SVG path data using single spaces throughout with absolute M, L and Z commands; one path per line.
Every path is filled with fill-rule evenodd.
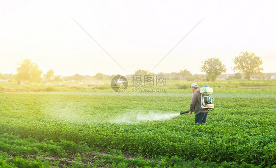
M 226 72 L 226 66 L 217 57 L 205 59 L 202 63 L 203 65 L 200 67 L 200 71 L 206 73 L 206 79 L 208 81 L 216 81 L 221 73 Z

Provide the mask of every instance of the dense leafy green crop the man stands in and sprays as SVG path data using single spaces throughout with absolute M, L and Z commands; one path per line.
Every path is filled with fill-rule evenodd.
M 151 158 L 177 155 L 210 163 L 276 164 L 276 98 L 216 97 L 206 125 L 194 124 L 188 114 L 161 121 L 110 122 L 140 112 L 185 110 L 188 96 L 1 94 L 0 99 L 2 134 L 68 140 Z

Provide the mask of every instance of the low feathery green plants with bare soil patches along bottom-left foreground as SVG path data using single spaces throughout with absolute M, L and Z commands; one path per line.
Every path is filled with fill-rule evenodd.
M 105 154 L 93 153 L 88 146 L 66 140 L 39 142 L 33 138 L 21 139 L 10 134 L 0 135 L 0 150 L 1 168 L 255 168 L 245 162 L 240 165 L 235 162 L 204 163 L 198 159 L 185 161 L 177 156 L 162 157 L 161 160 L 147 160 L 142 157 L 126 159 L 118 150 Z

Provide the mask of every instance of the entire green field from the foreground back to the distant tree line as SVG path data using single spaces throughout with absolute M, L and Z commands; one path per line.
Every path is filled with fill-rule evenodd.
M 168 83 L 165 93 L 2 84 L 0 165 L 276 165 L 275 81 L 209 83 L 214 85 L 215 110 L 204 125 L 194 123 L 194 114 L 177 115 L 189 110 L 192 91 L 181 89 L 188 84 Z M 52 89 L 43 90 L 48 87 Z

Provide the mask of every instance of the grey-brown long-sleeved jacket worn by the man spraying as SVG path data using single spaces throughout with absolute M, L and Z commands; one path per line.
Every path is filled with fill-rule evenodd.
M 208 112 L 207 109 L 201 108 L 201 94 L 199 89 L 193 92 L 193 97 L 190 105 L 190 111 L 194 111 L 194 115 L 197 115 L 200 112 Z

